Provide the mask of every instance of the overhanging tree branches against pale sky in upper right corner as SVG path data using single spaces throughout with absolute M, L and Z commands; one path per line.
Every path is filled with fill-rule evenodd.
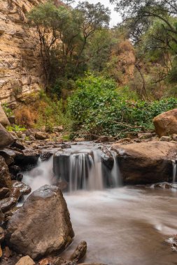
M 128 20 L 132 27 L 132 36 L 140 36 L 150 26 L 152 18 L 165 24 L 164 30 L 177 44 L 176 22 L 171 21 L 171 16 L 177 15 L 176 0 L 110 0 L 116 3 L 116 10 Z M 175 34 L 175 36 L 174 36 Z

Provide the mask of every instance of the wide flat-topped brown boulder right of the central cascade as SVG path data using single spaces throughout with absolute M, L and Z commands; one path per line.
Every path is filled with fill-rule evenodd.
M 125 184 L 149 184 L 172 181 L 177 145 L 171 142 L 115 144 L 120 173 Z

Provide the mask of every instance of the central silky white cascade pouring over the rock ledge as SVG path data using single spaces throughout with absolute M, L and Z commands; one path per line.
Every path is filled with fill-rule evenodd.
M 68 183 L 69 191 L 103 190 L 115 188 L 121 183 L 116 153 L 112 153 L 110 169 L 101 160 L 101 150 L 62 151 L 55 153 L 53 169 L 59 181 Z

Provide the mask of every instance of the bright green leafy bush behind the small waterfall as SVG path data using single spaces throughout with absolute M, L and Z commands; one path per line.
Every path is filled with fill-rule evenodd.
M 78 135 L 120 134 L 125 131 L 139 131 L 141 126 L 153 129 L 155 116 L 177 106 L 176 98 L 145 102 L 136 97 L 128 88 L 116 88 L 112 79 L 86 75 L 76 82 L 77 90 L 68 100 L 69 116 L 73 120 L 73 132 Z M 120 93 L 121 92 L 121 93 Z M 132 95 L 132 99 L 131 99 Z M 136 127 L 136 128 L 135 128 Z

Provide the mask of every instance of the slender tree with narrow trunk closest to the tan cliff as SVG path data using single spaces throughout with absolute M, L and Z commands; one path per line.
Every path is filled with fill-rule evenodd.
M 57 8 L 52 1 L 49 1 L 33 8 L 29 12 L 28 18 L 30 26 L 34 27 L 38 33 L 46 88 L 48 88 L 51 71 L 51 51 L 57 40 L 61 39 L 62 29 L 69 20 L 69 10 L 64 6 Z

